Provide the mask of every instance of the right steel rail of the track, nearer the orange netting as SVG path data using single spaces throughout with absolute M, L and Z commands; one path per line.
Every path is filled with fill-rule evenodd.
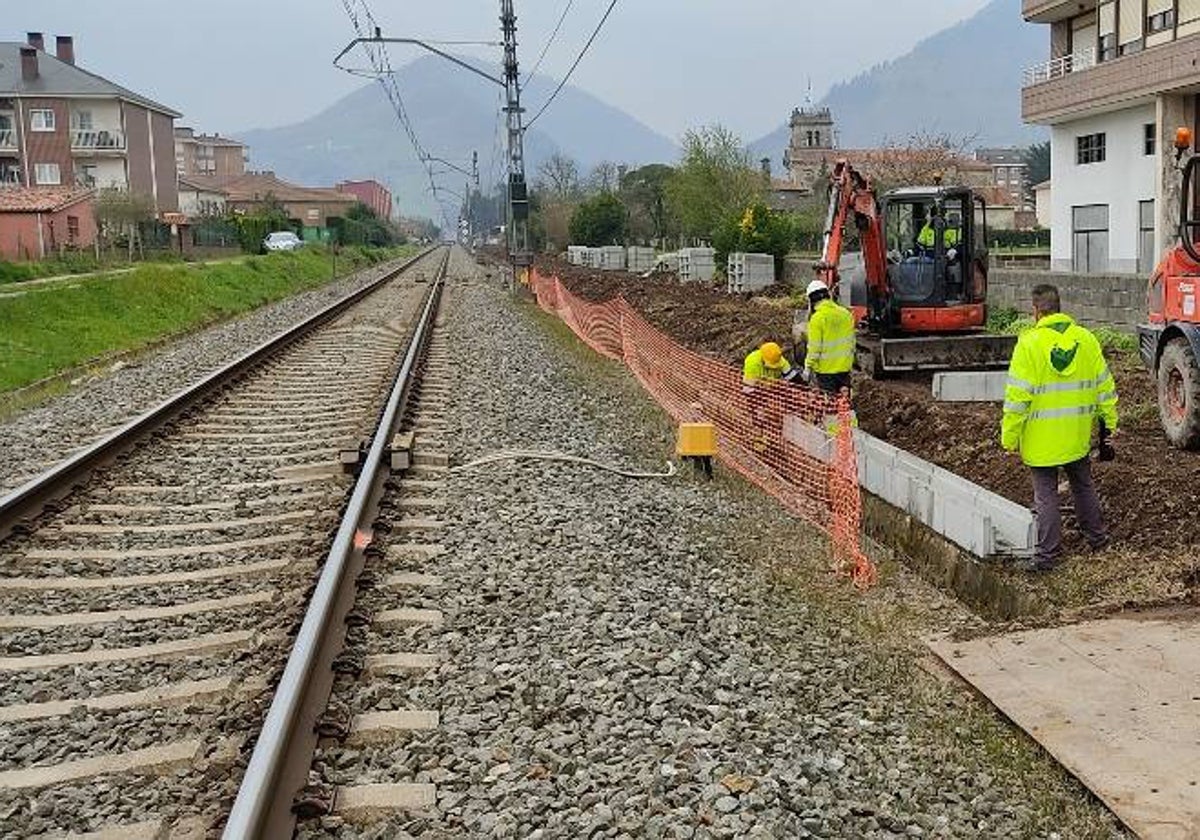
M 224 840 L 292 835 L 292 802 L 307 779 L 317 743 L 313 725 L 332 686 L 331 670 L 319 668 L 318 662 L 332 661 L 346 636 L 344 617 L 353 606 L 362 552 L 390 475 L 388 450 L 403 420 L 418 365 L 433 331 L 449 260 L 448 250 L 271 698 L 226 822 Z M 343 620 L 335 620 L 337 616 Z

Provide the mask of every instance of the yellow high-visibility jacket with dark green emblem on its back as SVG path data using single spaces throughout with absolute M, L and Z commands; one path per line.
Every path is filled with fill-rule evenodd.
M 1097 416 L 1117 427 L 1117 388 L 1100 342 L 1069 316 L 1046 316 L 1016 341 L 1001 444 L 1031 467 L 1087 457 Z

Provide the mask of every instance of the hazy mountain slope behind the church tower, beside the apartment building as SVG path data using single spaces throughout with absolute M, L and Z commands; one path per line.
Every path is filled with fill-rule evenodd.
M 1016 0 L 992 0 L 960 24 L 830 89 L 838 144 L 872 148 L 925 131 L 971 138 L 972 146 L 1026 145 L 1044 130 L 1021 122 L 1021 72 L 1049 54 L 1044 26 L 1021 19 Z M 755 160 L 779 166 L 787 126 L 754 142 Z

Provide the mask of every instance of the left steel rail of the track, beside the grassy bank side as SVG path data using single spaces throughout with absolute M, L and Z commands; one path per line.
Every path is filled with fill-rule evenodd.
M 396 270 L 379 280 L 330 304 L 320 312 L 280 332 L 274 338 L 245 353 L 204 379 L 168 397 L 149 412 L 128 421 L 116 431 L 76 452 L 20 487 L 0 497 L 0 540 L 7 536 L 22 520 L 37 516 L 52 500 L 61 498 L 79 486 L 97 468 L 112 462 L 139 439 L 175 418 L 185 409 L 217 391 L 236 377 L 257 366 L 264 359 L 288 347 L 317 326 L 335 318 L 347 308 L 378 290 L 398 275 L 409 270 L 442 246 L 424 250 L 404 262 Z

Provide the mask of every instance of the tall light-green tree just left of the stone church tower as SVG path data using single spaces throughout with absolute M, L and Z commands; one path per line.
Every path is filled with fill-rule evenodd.
M 683 234 L 712 238 L 722 221 L 762 194 L 762 175 L 733 132 L 716 125 L 684 134 L 683 158 L 666 185 L 667 206 Z

